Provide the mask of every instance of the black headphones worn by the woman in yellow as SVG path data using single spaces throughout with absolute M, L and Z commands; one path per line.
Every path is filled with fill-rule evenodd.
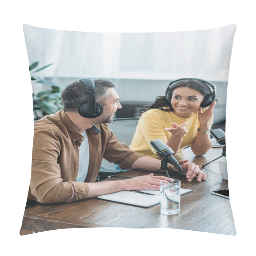
M 212 104 L 212 102 L 215 100 L 216 91 L 217 91 L 217 87 L 215 84 L 212 84 L 209 81 L 199 79 L 199 78 L 180 78 L 180 79 L 171 81 L 169 86 L 167 87 L 166 92 L 165 92 L 165 98 L 168 100 L 168 102 L 171 102 L 171 100 L 172 100 L 171 90 L 172 90 L 173 84 L 175 84 L 176 82 L 182 81 L 182 80 L 197 80 L 197 81 L 203 82 L 204 84 L 208 85 L 208 87 L 210 88 L 210 90 L 212 92 L 209 95 L 206 95 L 204 97 L 204 100 L 202 101 L 200 107 L 202 107 L 202 108 L 209 107 Z

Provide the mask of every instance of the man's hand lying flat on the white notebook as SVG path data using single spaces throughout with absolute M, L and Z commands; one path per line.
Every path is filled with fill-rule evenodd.
M 142 190 L 142 189 L 156 189 L 160 190 L 160 181 L 169 180 L 170 178 L 164 176 L 154 176 L 154 173 L 148 175 L 138 176 L 129 180 L 124 180 L 124 190 Z

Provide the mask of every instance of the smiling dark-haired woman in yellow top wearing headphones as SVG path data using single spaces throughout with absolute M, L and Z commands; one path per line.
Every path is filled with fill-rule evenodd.
M 212 143 L 210 130 L 216 86 L 197 78 L 172 81 L 165 93 L 151 106 L 140 109 L 136 132 L 130 148 L 148 156 L 156 156 L 150 141 L 163 140 L 175 154 L 188 145 L 196 156 L 204 155 Z

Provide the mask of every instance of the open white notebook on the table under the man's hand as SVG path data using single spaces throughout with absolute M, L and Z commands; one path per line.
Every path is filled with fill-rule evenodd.
M 112 194 L 98 196 L 98 198 L 108 200 L 108 201 L 138 205 L 138 206 L 143 206 L 143 207 L 149 207 L 149 206 L 160 203 L 160 191 L 153 190 L 153 189 L 144 189 L 144 190 L 140 190 L 140 191 L 154 194 L 154 196 L 147 195 L 147 194 L 135 193 L 132 191 L 119 191 L 119 192 L 112 193 Z M 180 195 L 184 195 L 189 192 L 192 192 L 192 190 L 185 189 L 185 188 L 180 189 Z

